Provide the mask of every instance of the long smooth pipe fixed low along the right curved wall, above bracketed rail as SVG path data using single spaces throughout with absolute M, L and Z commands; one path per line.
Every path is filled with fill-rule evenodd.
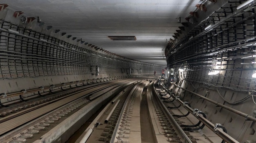
M 198 96 L 198 97 L 200 97 L 200 98 L 203 98 L 204 100 L 207 100 L 207 101 L 209 101 L 209 102 L 211 102 L 211 103 L 213 103 L 213 104 L 216 104 L 216 105 L 218 105 L 218 106 L 220 106 L 220 107 L 222 107 L 222 108 L 225 108 L 225 109 L 227 109 L 228 111 L 231 111 L 231 112 L 233 112 L 233 113 L 236 113 L 237 115 L 240 115 L 240 116 L 242 116 L 242 117 L 245 117 L 247 120 L 256 121 L 256 118 L 253 117 L 252 115 L 245 114 L 245 113 L 243 113 L 243 112 L 241 112 L 241 111 L 238 111 L 238 110 L 236 110 L 236 109 L 233 109 L 233 108 L 231 108 L 231 107 L 229 107 L 229 106 L 225 106 L 225 105 L 223 105 L 223 104 L 221 104 L 221 103 L 219 103 L 219 102 L 216 102 L 216 101 L 214 101 L 214 100 L 211 100 L 211 99 L 209 99 L 209 98 L 206 98 L 206 97 L 204 97 L 204 96 L 202 96 L 202 95 L 200 95 L 200 94 L 198 94 L 198 93 L 195 93 L 195 92 L 193 92 L 193 91 L 190 91 L 190 90 L 188 90 L 188 89 L 185 89 L 185 88 L 183 88 L 183 87 L 180 87 L 179 85 L 176 85 L 176 84 L 174 84 L 174 83 L 171 83 L 171 84 L 173 84 L 173 85 L 175 85 L 176 87 L 179 87 L 179 88 L 181 88 L 181 89 L 183 89 L 183 90 L 185 90 L 185 91 L 188 91 L 188 92 L 190 92 L 190 93 L 192 93 L 192 94 L 194 94 L 194 95 L 196 95 L 196 96 Z

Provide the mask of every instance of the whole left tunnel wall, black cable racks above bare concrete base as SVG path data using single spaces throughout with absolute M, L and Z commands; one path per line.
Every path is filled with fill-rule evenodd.
M 164 68 L 99 50 L 37 19 L 22 23 L 25 14 L 13 13 L 8 8 L 0 11 L 0 93 L 78 80 L 153 76 L 155 70 L 160 76 Z

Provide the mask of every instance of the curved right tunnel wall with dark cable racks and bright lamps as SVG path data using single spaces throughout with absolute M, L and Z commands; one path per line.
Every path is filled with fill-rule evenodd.
M 207 11 L 198 11 L 195 23 L 184 24 L 182 34 L 168 45 L 167 63 L 177 75 L 182 73 L 182 76 L 174 76 L 179 77 L 177 85 L 256 117 L 253 96 L 256 84 L 252 78 L 255 56 L 250 55 L 255 54 L 256 48 L 256 9 L 254 6 L 236 9 L 239 2 L 217 0 L 214 4 L 206 4 Z M 213 27 L 205 29 L 209 24 Z M 182 72 L 179 72 L 180 68 Z M 209 75 L 213 71 L 218 74 Z M 255 143 L 254 121 L 173 85 L 169 88 L 189 102 L 191 108 L 206 113 L 213 124 L 224 126 L 237 141 Z

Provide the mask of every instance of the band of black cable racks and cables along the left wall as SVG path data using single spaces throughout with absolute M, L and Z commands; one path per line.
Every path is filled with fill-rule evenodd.
M 0 78 L 95 75 L 97 67 L 99 74 L 121 73 L 121 68 L 141 68 L 144 74 L 153 74 L 151 71 L 157 67 L 104 55 L 4 20 L 0 22 Z

